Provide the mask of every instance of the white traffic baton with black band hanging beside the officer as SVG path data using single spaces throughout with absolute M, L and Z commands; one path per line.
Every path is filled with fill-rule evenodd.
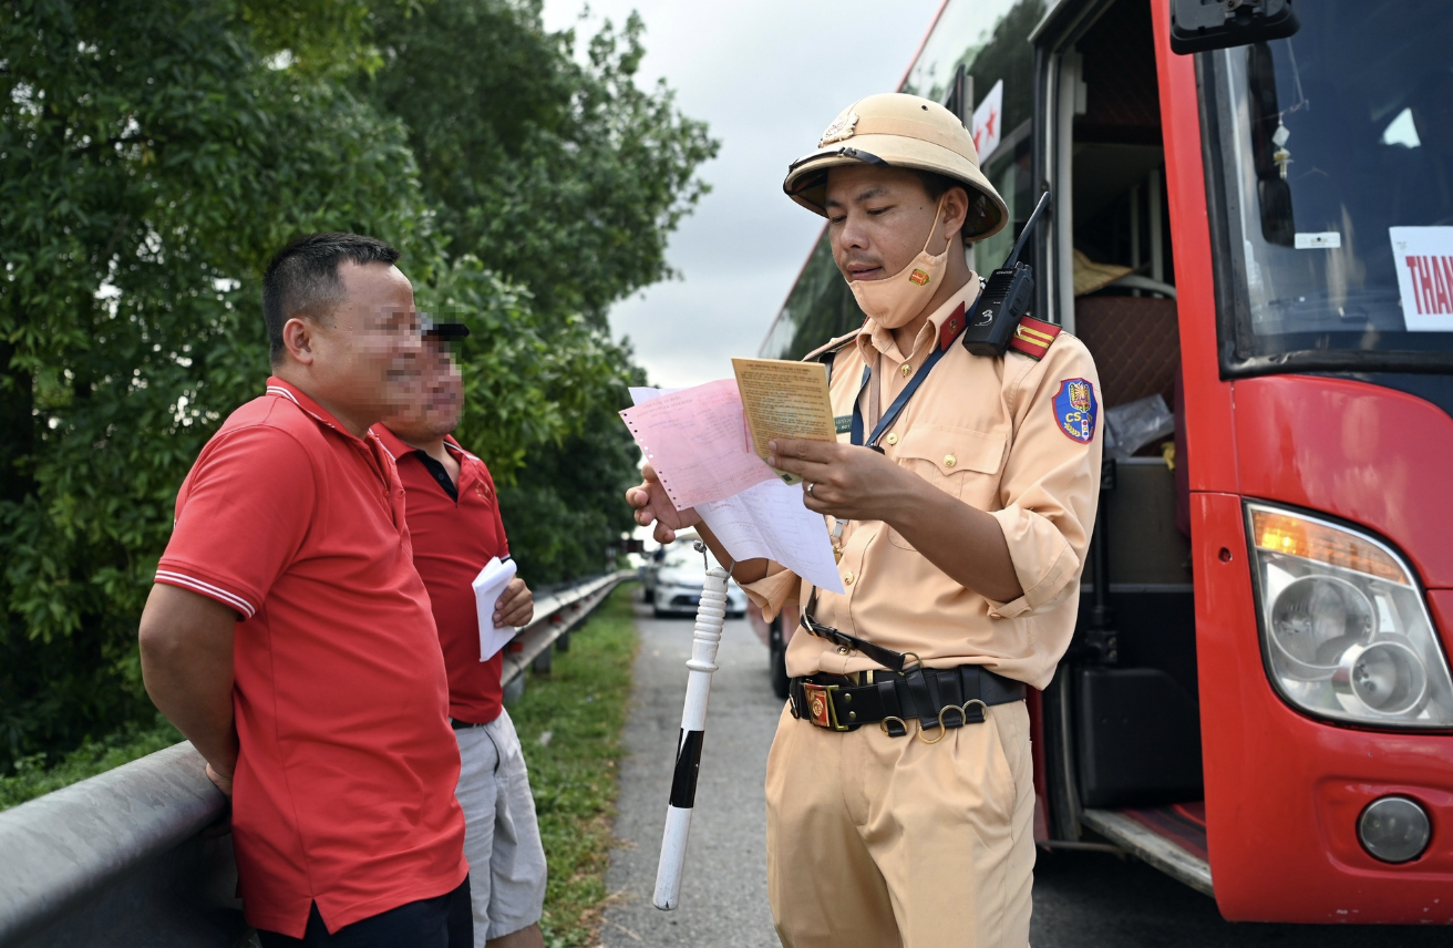
M 702 600 L 696 606 L 692 634 L 692 659 L 686 663 L 686 707 L 681 708 L 681 739 L 676 744 L 676 774 L 671 776 L 671 803 L 665 807 L 665 833 L 661 836 L 661 862 L 655 869 L 652 904 L 663 912 L 681 901 L 681 867 L 686 862 L 686 837 L 692 830 L 692 804 L 696 800 L 696 771 L 702 762 L 702 737 L 706 731 L 706 698 L 716 670 L 716 647 L 722 641 L 726 618 L 726 577 L 721 567 L 706 570 Z

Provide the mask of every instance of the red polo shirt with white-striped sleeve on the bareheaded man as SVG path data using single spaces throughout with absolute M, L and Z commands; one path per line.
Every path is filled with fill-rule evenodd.
M 232 846 L 247 922 L 301 938 L 468 872 L 459 747 L 392 458 L 278 378 L 187 474 L 157 582 L 237 611 Z

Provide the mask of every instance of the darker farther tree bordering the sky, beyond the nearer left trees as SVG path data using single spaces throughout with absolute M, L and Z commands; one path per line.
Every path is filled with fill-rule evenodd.
M 539 10 L 539 0 L 381 6 L 373 19 L 381 65 L 356 87 L 407 122 L 449 252 L 478 260 L 485 273 L 507 273 L 543 317 L 538 334 L 500 342 L 490 329 L 482 346 L 533 348 L 514 365 L 554 393 L 559 420 L 574 420 L 574 429 L 564 439 L 519 436 L 516 420 L 545 435 L 555 419 L 522 401 L 519 379 L 491 377 L 493 356 L 475 333 L 465 356 L 478 390 L 461 441 L 501 480 L 522 573 L 551 583 L 593 569 L 606 544 L 632 526 L 619 499 L 636 475 L 636 451 L 615 414 L 629 404 L 631 379 L 622 374 L 586 390 L 578 379 L 600 377 L 570 359 L 629 362 L 600 336 L 606 307 L 668 275 L 667 234 L 705 193 L 693 173 L 716 144 L 703 124 L 676 111 L 664 84 L 649 92 L 635 84 L 639 17 L 619 31 L 607 23 L 577 57 L 574 33 L 543 31 Z M 469 281 L 466 292 L 498 292 Z M 593 333 L 596 348 L 559 342 Z M 567 379 L 574 391 L 549 379 Z M 529 475 L 516 480 L 520 468 L 507 459 L 525 457 Z

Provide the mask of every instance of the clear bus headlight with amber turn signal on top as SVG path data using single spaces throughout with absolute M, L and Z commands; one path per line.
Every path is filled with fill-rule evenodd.
M 1453 679 L 1411 567 L 1357 529 L 1264 503 L 1247 526 L 1267 673 L 1292 705 L 1383 727 L 1453 724 Z

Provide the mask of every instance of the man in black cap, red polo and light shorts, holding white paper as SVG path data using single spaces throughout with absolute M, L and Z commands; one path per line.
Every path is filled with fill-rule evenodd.
M 543 948 L 545 851 L 535 822 L 529 774 L 504 710 L 501 653 L 479 660 L 474 579 L 493 557 L 509 558 L 494 481 L 484 462 L 449 433 L 459 423 L 464 385 L 449 343 L 469 334 L 459 323 L 424 329 L 420 397 L 373 432 L 398 464 L 414 541 L 414 564 L 429 589 L 439 644 L 449 669 L 449 717 L 459 740 L 458 797 L 468 824 L 477 948 Z M 497 627 L 527 625 L 529 587 L 510 580 L 494 603 Z

